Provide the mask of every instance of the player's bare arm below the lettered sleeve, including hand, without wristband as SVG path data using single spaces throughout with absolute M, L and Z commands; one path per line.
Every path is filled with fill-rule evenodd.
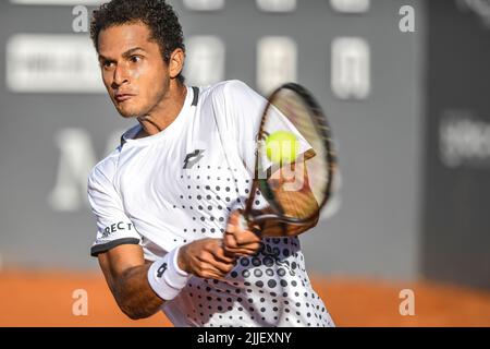
M 151 288 L 143 248 L 122 244 L 98 255 L 99 264 L 114 299 L 132 320 L 145 318 L 160 310 L 164 300 Z M 177 264 L 185 273 L 201 278 L 221 279 L 234 267 L 225 255 L 221 239 L 201 239 L 179 250 Z

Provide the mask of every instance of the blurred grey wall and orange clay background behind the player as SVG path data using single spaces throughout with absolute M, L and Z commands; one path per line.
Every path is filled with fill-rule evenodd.
M 133 125 L 88 37 L 101 2 L 0 2 L 3 326 L 169 325 L 126 320 L 89 257 L 87 174 Z M 336 324 L 490 326 L 490 1 L 169 2 L 187 84 L 295 81 L 327 111 L 341 172 L 302 244 Z

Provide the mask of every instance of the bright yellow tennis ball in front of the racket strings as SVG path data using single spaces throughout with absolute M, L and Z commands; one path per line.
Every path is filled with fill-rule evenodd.
M 291 163 L 298 152 L 299 142 L 292 132 L 277 131 L 266 139 L 266 154 L 272 163 Z

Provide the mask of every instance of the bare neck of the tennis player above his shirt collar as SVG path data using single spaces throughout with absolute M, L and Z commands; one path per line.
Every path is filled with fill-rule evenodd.
M 187 87 L 184 84 L 175 83 L 175 86 L 171 86 L 159 105 L 148 115 L 137 118 L 142 130 L 135 139 L 154 135 L 167 129 L 181 112 L 186 96 Z

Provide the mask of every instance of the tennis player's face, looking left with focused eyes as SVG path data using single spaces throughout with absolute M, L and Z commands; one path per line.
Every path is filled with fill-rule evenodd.
M 166 96 L 169 69 L 150 31 L 143 23 L 112 26 L 100 32 L 99 63 L 103 84 L 119 113 L 147 115 Z

